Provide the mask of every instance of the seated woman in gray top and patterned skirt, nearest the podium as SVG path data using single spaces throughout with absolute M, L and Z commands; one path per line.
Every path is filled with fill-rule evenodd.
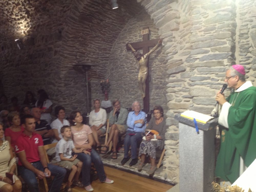
M 164 119 L 164 111 L 163 108 L 159 105 L 154 106 L 154 117 L 148 123 L 148 130 L 155 130 L 159 134 L 152 135 L 147 134 L 141 144 L 139 150 L 139 156 L 141 157 L 141 162 L 138 165 L 138 170 L 141 170 L 145 165 L 145 158 L 148 154 L 150 156 L 151 168 L 147 172 L 148 174 L 153 174 L 156 170 L 156 148 L 163 149 L 164 147 L 164 135 L 166 132 L 166 125 Z

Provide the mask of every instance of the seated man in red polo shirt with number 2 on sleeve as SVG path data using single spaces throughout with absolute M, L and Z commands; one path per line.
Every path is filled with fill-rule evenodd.
M 25 131 L 18 137 L 15 152 L 19 157 L 19 173 L 28 184 L 30 192 L 39 192 L 36 177 L 55 176 L 49 192 L 58 192 L 66 175 L 66 169 L 48 164 L 43 149 L 41 135 L 34 133 L 36 121 L 31 115 L 25 115 L 21 119 Z

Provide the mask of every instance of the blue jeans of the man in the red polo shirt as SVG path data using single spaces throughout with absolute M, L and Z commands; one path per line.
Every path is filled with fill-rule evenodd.
M 44 172 L 44 167 L 42 166 L 41 162 L 36 162 L 32 164 L 36 169 Z M 49 192 L 59 192 L 62 181 L 67 173 L 65 168 L 56 166 L 56 165 L 47 165 L 51 175 L 54 176 L 54 179 L 51 183 L 51 188 Z M 37 182 L 37 175 L 32 172 L 31 170 L 25 168 L 24 166 L 19 166 L 19 173 L 24 181 L 28 184 L 28 188 L 30 192 L 39 192 L 38 182 Z

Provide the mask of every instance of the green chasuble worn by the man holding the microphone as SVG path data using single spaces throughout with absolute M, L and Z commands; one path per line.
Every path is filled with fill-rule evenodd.
M 215 176 L 234 183 L 239 177 L 240 156 L 248 167 L 256 158 L 256 88 L 232 92 L 227 98 L 228 130 L 221 132 Z

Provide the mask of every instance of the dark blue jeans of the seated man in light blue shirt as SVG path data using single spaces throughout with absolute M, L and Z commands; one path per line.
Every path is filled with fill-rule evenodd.
M 129 135 L 130 133 L 135 134 L 135 135 Z M 142 140 L 141 136 L 142 132 L 133 132 L 133 131 L 127 131 L 126 136 L 124 138 L 124 158 L 128 157 L 128 152 L 131 146 L 131 154 L 132 154 L 132 159 L 137 158 L 137 143 L 138 141 Z

